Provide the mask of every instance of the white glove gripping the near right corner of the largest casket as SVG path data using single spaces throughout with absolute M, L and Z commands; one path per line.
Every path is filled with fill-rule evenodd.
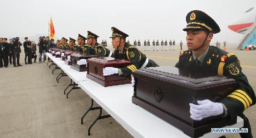
M 223 106 L 221 103 L 214 103 L 208 99 L 197 101 L 199 105 L 189 103 L 190 118 L 193 120 L 202 120 L 203 118 L 221 115 L 223 113 Z

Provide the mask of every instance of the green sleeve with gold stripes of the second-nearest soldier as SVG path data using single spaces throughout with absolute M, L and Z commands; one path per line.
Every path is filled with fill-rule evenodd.
M 127 51 L 127 57 L 129 61 L 132 63 L 132 65 L 129 65 L 125 68 L 120 68 L 123 73 L 123 76 L 129 76 L 133 72 L 135 72 L 137 69 L 140 68 L 139 65 L 140 65 L 141 54 L 136 48 L 133 48 L 133 47 L 129 48 L 129 50 Z

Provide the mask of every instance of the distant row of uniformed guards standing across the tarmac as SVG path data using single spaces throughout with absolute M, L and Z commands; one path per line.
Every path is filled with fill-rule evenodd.
M 129 40 L 127 40 L 127 43 L 128 44 L 130 44 L 130 41 Z M 155 40 L 153 40 L 153 42 L 152 42 L 152 44 L 153 44 L 153 51 L 159 51 L 159 45 L 161 44 L 161 50 L 163 51 L 163 50 L 165 50 L 165 51 L 167 51 L 168 50 L 168 41 L 167 40 L 162 40 L 161 41 L 161 43 L 159 44 L 159 40 L 157 40 L 157 41 L 155 41 Z M 138 41 L 134 41 L 133 42 L 133 45 L 135 46 L 135 47 L 140 47 L 141 46 L 141 41 L 140 40 L 138 40 Z M 182 41 L 180 41 L 179 42 L 179 46 L 180 46 L 180 50 L 182 50 L 182 45 L 183 45 L 183 43 L 182 43 Z M 171 47 L 173 47 L 173 50 L 175 50 L 175 40 L 174 41 L 169 41 L 169 46 L 170 46 L 170 50 L 171 50 Z M 150 41 L 149 40 L 144 40 L 144 51 L 150 51 Z

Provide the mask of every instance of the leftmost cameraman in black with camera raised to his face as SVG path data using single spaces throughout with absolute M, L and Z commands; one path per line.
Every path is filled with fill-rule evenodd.
M 18 67 L 18 66 L 22 66 L 20 64 L 20 53 L 21 53 L 21 42 L 20 42 L 20 38 L 16 37 L 12 40 L 12 48 L 13 48 L 13 66 L 14 67 Z M 16 58 L 17 58 L 17 65 L 16 65 Z

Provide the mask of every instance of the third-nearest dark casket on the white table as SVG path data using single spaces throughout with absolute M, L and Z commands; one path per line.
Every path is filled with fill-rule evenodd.
M 77 65 L 77 61 L 79 61 L 80 59 L 90 59 L 90 58 L 94 58 L 97 57 L 97 55 L 80 55 L 80 54 L 72 54 L 71 55 L 71 66 L 70 68 L 73 68 L 79 72 L 82 71 L 87 71 L 87 67 L 86 65 Z

